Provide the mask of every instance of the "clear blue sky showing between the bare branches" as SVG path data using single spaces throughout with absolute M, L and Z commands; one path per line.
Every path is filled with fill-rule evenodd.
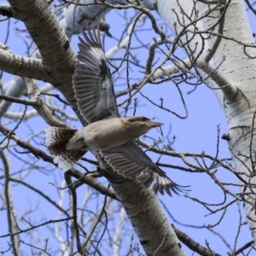
M 3 1 L 0 1 L 3 3 Z M 5 3 L 5 1 L 4 1 Z M 112 11 L 107 15 L 107 22 L 110 24 L 110 32 L 113 34 L 114 38 L 119 38 L 122 30 L 125 27 L 125 20 L 122 20 L 119 14 L 125 15 L 124 11 Z M 133 13 L 128 15 L 131 17 Z M 154 15 L 156 13 L 154 12 Z M 119 20 L 117 22 L 116 20 Z M 158 20 L 159 24 L 162 24 L 162 21 Z M 15 27 L 22 27 L 22 22 L 14 22 L 11 20 L 11 26 L 9 30 L 9 39 L 7 45 L 9 48 L 19 55 L 26 55 L 26 45 L 24 43 L 24 38 L 20 36 L 17 37 L 17 33 L 15 33 Z M 146 26 L 147 27 L 147 26 Z M 143 26 L 144 28 L 144 26 Z M 149 26 L 148 26 L 149 28 Z M 7 21 L 3 21 L 0 23 L 0 41 L 3 43 L 4 39 L 6 38 L 7 34 Z M 168 32 L 171 35 L 171 32 Z M 20 35 L 20 34 L 19 34 Z M 142 30 L 138 33 L 140 36 L 140 40 L 143 40 L 144 44 L 150 44 L 153 40 L 153 37 L 156 35 L 150 30 Z M 77 39 L 74 37 L 72 38 L 73 48 L 77 50 Z M 109 48 L 113 47 L 116 44 L 116 40 L 113 38 L 105 38 L 105 45 L 106 51 Z M 136 37 L 133 38 L 131 46 L 135 47 L 139 45 L 138 40 Z M 145 65 L 145 56 L 147 55 L 147 49 L 132 49 L 132 53 L 137 55 L 137 59 L 140 61 L 140 65 Z M 124 50 L 116 56 L 121 56 L 124 53 Z M 183 55 L 183 52 L 180 52 Z M 161 56 L 160 56 L 161 57 Z M 160 61 L 159 61 L 160 62 Z M 125 66 L 124 66 L 125 68 Z M 131 67 L 132 70 L 130 71 L 131 76 L 131 84 L 137 81 L 137 79 L 143 78 L 143 69 L 138 67 Z M 124 74 L 125 76 L 125 74 Z M 116 75 L 114 75 L 114 78 Z M 3 74 L 3 81 L 7 82 L 9 79 L 12 79 L 13 76 L 9 74 Z M 44 85 L 44 83 L 40 83 Z M 115 82 L 114 90 L 117 92 L 125 88 L 125 79 L 118 79 Z M 215 98 L 214 94 L 210 89 L 207 88 L 204 84 L 201 84 L 197 87 L 197 89 L 188 94 L 190 90 L 193 89 L 193 86 L 182 84 L 180 86 L 181 90 L 183 91 L 183 97 L 186 102 L 186 106 L 189 109 L 189 117 L 187 119 L 178 119 L 172 113 L 166 113 L 160 111 L 159 108 L 152 106 L 147 100 L 143 97 L 139 97 L 138 101 L 138 108 L 137 108 L 137 115 L 145 115 L 149 118 L 155 118 L 159 120 L 165 125 L 162 127 L 164 134 L 167 134 L 168 131 L 171 129 L 171 133 L 169 135 L 169 139 L 172 140 L 172 137 L 175 136 L 175 143 L 172 147 L 178 152 L 193 152 L 195 154 L 201 154 L 205 152 L 206 154 L 214 155 L 216 153 L 216 145 L 217 145 L 217 125 L 220 125 L 220 136 L 227 132 L 227 125 L 225 121 L 225 116 L 223 110 L 220 108 L 217 99 Z M 143 89 L 143 93 L 149 96 L 154 102 L 160 102 L 160 97 L 164 98 L 165 106 L 172 109 L 172 111 L 176 111 L 177 113 L 184 114 L 184 110 L 182 107 L 180 96 L 178 96 L 177 89 L 171 82 L 166 82 L 165 84 L 148 84 Z M 58 103 L 55 100 L 56 104 Z M 118 99 L 118 102 L 121 102 L 121 99 Z M 61 108 L 63 105 L 60 104 Z M 131 105 L 132 107 L 132 105 Z M 9 108 L 9 111 L 23 111 L 23 106 L 16 106 Z M 31 108 L 29 108 L 31 109 Z M 119 109 L 120 113 L 122 109 Z M 68 110 L 69 113 L 72 113 L 72 110 Z M 127 115 L 133 114 L 133 108 L 131 108 Z M 7 123 L 7 119 L 2 119 L 2 124 L 14 126 L 15 124 Z M 81 127 L 79 122 L 72 122 L 72 125 L 76 127 Z M 27 122 L 22 123 L 19 129 L 16 131 L 18 137 L 23 139 L 32 135 L 32 132 L 40 132 L 46 128 L 47 125 L 45 124 L 44 120 L 41 118 L 33 118 Z M 150 131 L 148 133 L 148 137 L 160 137 L 160 131 L 154 129 L 154 131 Z M 152 142 L 149 138 L 145 138 L 148 143 Z M 165 138 L 167 139 L 167 138 Z M 43 133 L 39 134 L 36 143 L 44 142 Z M 32 141 L 32 143 L 35 143 Z M 14 143 L 11 143 L 11 146 Z M 43 146 L 38 146 L 41 150 L 45 150 Z M 10 147 L 10 151 L 13 152 L 14 147 Z M 18 147 L 15 147 L 20 149 Z M 45 150 L 46 151 L 46 150 Z M 23 164 L 15 158 L 11 153 L 8 153 L 5 150 L 6 155 L 9 156 L 10 160 L 12 161 L 11 168 L 12 172 L 20 171 L 22 168 L 26 168 L 26 164 Z M 149 153 L 153 160 L 158 159 L 158 155 Z M 23 158 L 22 154 L 20 154 L 21 159 Z M 86 155 L 89 157 L 89 155 Z M 224 140 L 220 140 L 220 147 L 219 147 L 219 158 L 230 158 L 230 152 L 228 150 L 228 145 Z M 193 161 L 193 160 L 192 160 Z M 181 160 L 178 160 L 174 157 L 166 157 L 163 156 L 160 159 L 161 163 L 169 163 L 172 165 L 183 165 Z M 42 163 L 42 161 L 38 161 L 36 164 L 39 166 L 47 166 L 48 164 Z M 87 165 L 88 166 L 88 165 Z M 1 167 L 2 168 L 2 167 Z M 91 166 L 88 166 L 91 169 Z M 95 168 L 94 168 L 95 169 Z M 93 170 L 94 170 L 93 169 Z M 59 191 L 55 189 L 50 183 L 56 183 L 57 185 L 61 186 L 61 178 L 63 174 L 60 170 L 54 169 L 52 166 L 47 167 L 49 172 L 43 172 L 36 169 L 32 169 L 22 173 L 22 178 L 26 180 L 27 183 L 31 183 L 33 186 L 36 186 L 38 189 L 42 189 L 45 194 L 49 195 L 55 201 L 59 201 L 60 193 L 62 190 Z M 191 191 L 189 192 L 190 197 L 195 197 L 200 199 L 201 201 L 207 201 L 212 204 L 217 204 L 223 201 L 223 192 L 218 189 L 216 184 L 208 177 L 206 174 L 202 173 L 190 173 L 190 172 L 183 172 L 180 170 L 175 169 L 166 169 L 163 168 L 176 183 L 182 185 L 191 185 Z M 2 174 L 1 174 L 2 175 Z M 226 170 L 218 169 L 218 178 L 222 181 L 233 182 L 236 183 L 236 177 Z M 16 175 L 15 177 L 19 177 Z M 107 184 L 107 181 L 102 178 L 102 182 Z M 90 189 L 89 189 L 90 190 Z M 238 192 L 237 189 L 234 189 Z M 2 189 L 0 190 L 2 193 Z M 79 188 L 79 206 L 83 205 L 84 201 L 84 194 L 88 193 L 87 188 Z M 92 192 L 94 193 L 94 192 Z M 22 216 L 25 212 L 28 212 L 28 209 L 32 209 L 33 214 L 27 213 L 25 216 L 29 218 L 34 223 L 41 223 L 47 219 L 55 219 L 56 211 L 54 208 L 50 207 L 50 205 L 44 201 L 44 199 L 40 198 L 36 193 L 32 193 L 30 189 L 24 189 L 24 187 L 14 185 L 14 197 L 15 197 L 15 204 L 17 207 L 17 214 L 18 216 Z M 183 195 L 177 196 L 174 195 L 172 198 L 169 196 L 162 196 L 160 195 L 160 200 L 165 204 L 166 208 L 172 214 L 172 218 L 170 217 L 170 221 L 177 226 L 178 229 L 183 230 L 186 234 L 191 236 L 195 241 L 198 241 L 202 246 L 206 246 L 206 240 L 210 243 L 210 247 L 222 255 L 229 251 L 229 248 L 225 245 L 224 241 L 219 238 L 218 235 L 213 234 L 211 231 L 205 228 L 205 225 L 208 224 L 215 224 L 221 216 L 221 213 L 218 212 L 217 214 L 206 216 L 209 212 L 207 212 L 205 207 L 202 207 L 201 204 L 196 203 L 195 201 L 191 201 L 188 198 L 185 198 Z M 230 199 L 229 199 L 230 200 Z M 90 206 L 95 207 L 97 204 L 102 203 L 102 198 L 99 201 L 91 201 Z M 67 198 L 64 202 L 64 205 L 68 207 Z M 118 206 L 117 206 L 118 208 Z M 241 207 L 241 212 L 244 218 L 243 209 Z M 6 219 L 6 212 L 0 212 L 1 219 Z M 175 221 L 173 220 L 175 218 Z M 224 239 L 230 243 L 230 246 L 233 247 L 236 233 L 238 230 L 239 224 L 239 213 L 238 207 L 236 204 L 229 207 L 229 210 L 224 216 L 223 221 L 219 224 L 214 230 L 221 234 Z M 27 224 L 23 222 L 23 228 L 25 228 Z M 64 224 L 62 226 L 62 234 L 65 234 Z M 22 227 L 22 225 L 21 225 Z M 51 226 L 53 227 L 53 226 Z M 112 229 L 112 227 L 110 227 Z M 131 230 L 131 227 L 128 228 Z M 132 232 L 132 231 L 131 231 Z M 0 236 L 8 233 L 6 230 L 6 224 L 4 222 L 0 223 Z M 49 229 L 41 229 L 38 230 L 36 233 L 38 236 L 40 234 L 41 239 L 47 239 L 51 232 Z M 129 233 L 130 234 L 130 233 Z M 65 235 L 63 235 L 65 236 Z M 22 236 L 23 240 L 26 240 L 26 236 Z M 241 247 L 247 241 L 251 241 L 251 235 L 248 230 L 247 225 L 243 226 L 241 229 L 241 234 L 239 236 L 237 247 Z M 9 239 L 0 239 L 0 251 L 3 251 L 7 248 L 7 241 Z M 130 236 L 127 235 L 125 238 L 126 246 L 129 247 Z M 55 241 L 56 242 L 56 241 Z M 55 247 L 55 242 L 52 241 L 51 246 Z M 43 241 L 40 240 L 40 246 L 43 246 Z M 184 247 L 185 251 L 188 255 L 191 254 L 189 248 Z M 29 248 L 24 246 L 24 250 L 29 252 Z M 106 249 L 107 250 L 107 249 Z M 125 252 L 124 252 L 125 253 Z M 10 255 L 6 253 L 4 255 Z M 109 254 L 111 255 L 111 253 Z M 253 255 L 253 254 L 252 254 Z

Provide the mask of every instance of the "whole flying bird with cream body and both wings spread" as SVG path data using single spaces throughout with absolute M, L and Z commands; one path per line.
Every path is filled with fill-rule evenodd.
M 142 116 L 119 116 L 99 29 L 90 31 L 87 27 L 87 34 L 84 29 L 82 34 L 73 90 L 79 112 L 88 125 L 80 130 L 51 126 L 45 129 L 46 147 L 54 155 L 54 163 L 67 172 L 89 150 L 99 154 L 119 175 L 137 179 L 145 188 L 154 183 L 155 193 L 172 196 L 172 192 L 179 195 L 189 191 L 189 186 L 174 183 L 134 142 L 163 124 Z

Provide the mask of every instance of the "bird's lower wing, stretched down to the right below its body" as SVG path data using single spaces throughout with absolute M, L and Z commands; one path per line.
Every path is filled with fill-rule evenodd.
M 140 183 L 148 188 L 153 183 L 154 192 L 160 192 L 164 195 L 164 191 L 168 195 L 172 195 L 171 191 L 178 195 L 178 192 L 189 191 L 189 186 L 181 186 L 166 176 L 166 172 L 156 166 L 147 154 L 143 152 L 137 144 L 130 142 L 118 148 L 104 149 L 100 152 L 104 160 L 120 175 L 136 178 Z

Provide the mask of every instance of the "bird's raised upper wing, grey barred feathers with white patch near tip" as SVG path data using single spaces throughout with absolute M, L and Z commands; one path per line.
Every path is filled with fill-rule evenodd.
M 79 111 L 87 122 L 119 117 L 113 81 L 102 49 L 99 30 L 79 37 L 79 63 L 75 65 L 73 89 Z

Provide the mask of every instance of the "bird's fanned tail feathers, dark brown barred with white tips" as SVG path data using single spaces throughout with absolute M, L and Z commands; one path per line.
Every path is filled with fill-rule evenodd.
M 67 150 L 66 144 L 77 130 L 48 127 L 45 132 L 45 143 L 50 154 L 55 156 L 54 163 L 63 171 L 67 172 L 84 155 L 84 151 Z

